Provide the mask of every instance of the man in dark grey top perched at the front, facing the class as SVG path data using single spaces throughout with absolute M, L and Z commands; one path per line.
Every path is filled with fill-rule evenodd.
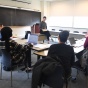
M 47 37 L 48 43 L 49 43 L 49 37 L 51 36 L 49 31 L 47 30 L 47 24 L 46 24 L 46 16 L 43 17 L 42 22 L 40 23 L 40 33 L 44 34 Z

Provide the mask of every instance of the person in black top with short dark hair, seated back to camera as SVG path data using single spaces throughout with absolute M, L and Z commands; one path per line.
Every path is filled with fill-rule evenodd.
M 74 50 L 71 46 L 66 45 L 65 42 L 69 37 L 68 31 L 62 31 L 58 36 L 58 44 L 51 45 L 48 55 L 58 56 L 64 64 L 67 77 L 71 74 L 71 67 L 74 63 Z

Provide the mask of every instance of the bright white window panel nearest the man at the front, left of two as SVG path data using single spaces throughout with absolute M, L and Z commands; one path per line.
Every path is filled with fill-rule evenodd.
M 49 26 L 72 27 L 73 16 L 52 16 L 47 22 Z

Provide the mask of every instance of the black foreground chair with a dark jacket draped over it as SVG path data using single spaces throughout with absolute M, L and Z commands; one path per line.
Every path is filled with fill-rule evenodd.
M 63 88 L 64 82 L 65 82 L 66 88 L 68 88 L 68 79 L 70 79 L 70 76 L 69 78 L 64 79 L 63 75 L 64 75 L 63 68 L 60 66 L 57 66 L 53 74 L 49 76 L 45 76 L 44 84 L 51 88 Z

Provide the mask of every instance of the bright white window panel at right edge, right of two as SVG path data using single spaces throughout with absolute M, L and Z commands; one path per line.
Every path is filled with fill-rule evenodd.
M 73 26 L 75 28 L 88 28 L 88 16 L 75 16 Z

